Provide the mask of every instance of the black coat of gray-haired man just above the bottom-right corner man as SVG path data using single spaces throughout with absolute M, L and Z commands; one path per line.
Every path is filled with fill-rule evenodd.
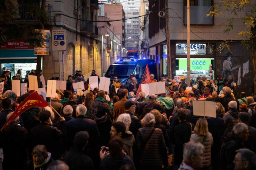
M 232 131 L 225 134 L 220 151 L 220 169 L 234 170 L 234 158 L 236 150 L 246 148 L 241 139 Z

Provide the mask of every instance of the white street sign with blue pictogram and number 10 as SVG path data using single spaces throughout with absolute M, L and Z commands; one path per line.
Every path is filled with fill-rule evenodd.
M 52 51 L 66 50 L 66 30 L 52 30 Z

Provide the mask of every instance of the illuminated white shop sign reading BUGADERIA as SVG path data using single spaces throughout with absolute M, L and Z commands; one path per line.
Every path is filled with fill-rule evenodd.
M 176 55 L 187 55 L 187 44 L 176 43 Z M 191 43 L 190 55 L 206 55 L 205 43 Z

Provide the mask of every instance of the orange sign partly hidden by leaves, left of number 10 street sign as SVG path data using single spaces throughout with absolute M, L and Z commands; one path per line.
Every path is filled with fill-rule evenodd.
M 42 47 L 34 46 L 34 55 L 49 55 L 50 30 L 41 30 L 44 38 Z M 39 30 L 35 30 L 39 32 Z

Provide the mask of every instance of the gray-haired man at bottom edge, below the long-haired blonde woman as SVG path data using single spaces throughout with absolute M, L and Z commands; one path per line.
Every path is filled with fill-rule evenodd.
M 184 144 L 183 162 L 178 170 L 200 170 L 203 167 L 204 145 L 188 142 Z

